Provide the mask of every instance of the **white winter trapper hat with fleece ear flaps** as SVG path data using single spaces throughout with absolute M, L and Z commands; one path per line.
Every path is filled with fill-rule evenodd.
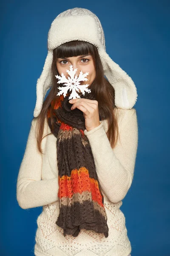
M 52 86 L 51 64 L 53 50 L 69 41 L 87 41 L 97 47 L 104 75 L 115 90 L 117 108 L 131 109 L 137 101 L 133 80 L 105 51 L 105 35 L 99 18 L 88 9 L 73 8 L 60 13 L 51 23 L 48 32 L 48 54 L 39 79 L 34 117 L 39 116 L 48 89 Z

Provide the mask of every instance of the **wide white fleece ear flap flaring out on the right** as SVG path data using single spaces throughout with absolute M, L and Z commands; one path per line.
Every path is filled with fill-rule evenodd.
M 119 67 L 102 47 L 98 49 L 102 61 L 104 75 L 115 90 L 117 108 L 131 109 L 137 101 L 136 86 L 127 73 Z

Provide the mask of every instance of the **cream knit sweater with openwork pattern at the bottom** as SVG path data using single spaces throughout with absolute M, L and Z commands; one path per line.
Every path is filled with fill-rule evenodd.
M 17 178 L 17 201 L 21 208 L 42 206 L 37 218 L 36 256 L 128 256 L 130 241 L 125 216 L 119 209 L 133 180 L 138 146 L 138 123 L 134 108 L 115 109 L 118 114 L 120 140 L 111 148 L 106 132 L 107 121 L 91 131 L 85 130 L 94 155 L 96 172 L 102 186 L 108 217 L 109 236 L 82 229 L 77 237 L 63 236 L 55 222 L 59 215 L 57 138 L 51 134 L 42 140 L 41 154 L 37 150 L 35 125 L 31 123 L 25 154 Z M 45 119 L 44 134 L 50 133 Z

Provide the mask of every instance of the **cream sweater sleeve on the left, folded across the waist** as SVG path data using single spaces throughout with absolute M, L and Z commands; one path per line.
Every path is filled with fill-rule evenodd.
M 17 201 L 23 209 L 58 200 L 58 178 L 41 180 L 42 154 L 37 149 L 35 123 L 36 119 L 33 119 L 17 177 Z

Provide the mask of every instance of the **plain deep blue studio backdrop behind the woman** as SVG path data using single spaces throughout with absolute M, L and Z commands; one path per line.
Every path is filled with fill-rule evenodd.
M 94 12 L 108 55 L 133 79 L 139 144 L 133 183 L 121 207 L 132 256 L 170 255 L 170 2 L 3 1 L 0 40 L 1 255 L 34 255 L 42 207 L 21 209 L 16 182 L 36 103 L 47 36 L 60 12 Z M 169 17 L 168 17 L 169 16 Z

